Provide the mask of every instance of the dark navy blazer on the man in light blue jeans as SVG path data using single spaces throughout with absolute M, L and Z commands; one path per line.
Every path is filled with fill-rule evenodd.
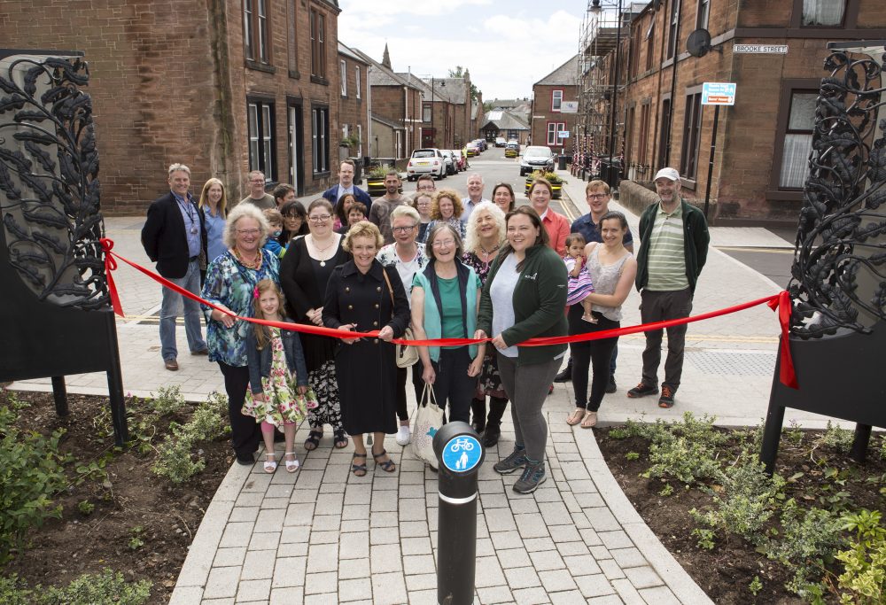
M 200 251 L 206 254 L 206 219 L 196 202 L 190 202 L 200 221 Z M 155 199 L 148 207 L 148 219 L 142 228 L 144 252 L 157 263 L 157 273 L 177 279 L 188 273 L 188 233 L 182 211 L 172 191 Z

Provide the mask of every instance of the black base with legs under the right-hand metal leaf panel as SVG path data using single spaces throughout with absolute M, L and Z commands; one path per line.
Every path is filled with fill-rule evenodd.
M 766 471 L 774 469 L 786 407 L 857 423 L 850 454 L 864 462 L 871 427 L 886 427 L 886 322 L 874 324 L 869 334 L 791 337 L 790 352 L 800 388 L 781 384 L 781 360 L 776 362 L 760 451 Z

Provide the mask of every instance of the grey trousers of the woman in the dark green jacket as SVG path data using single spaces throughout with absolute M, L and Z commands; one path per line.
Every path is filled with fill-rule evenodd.
M 526 447 L 526 456 L 530 460 L 540 462 L 545 458 L 545 446 L 548 445 L 548 423 L 541 414 L 541 407 L 548 399 L 548 389 L 563 359 L 558 357 L 517 368 L 517 358 L 497 354 L 501 384 L 511 400 L 515 440 L 517 445 Z

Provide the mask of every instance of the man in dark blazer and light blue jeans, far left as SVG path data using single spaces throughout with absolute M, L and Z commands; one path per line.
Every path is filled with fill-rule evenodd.
M 153 201 L 142 228 L 142 245 L 157 263 L 157 273 L 194 294 L 200 292 L 200 255 L 206 255 L 206 227 L 190 189 L 190 168 L 169 167 L 169 191 Z M 160 303 L 160 355 L 168 370 L 178 369 L 175 318 L 184 305 L 184 331 L 192 355 L 207 355 L 209 347 L 200 331 L 200 306 L 164 287 Z

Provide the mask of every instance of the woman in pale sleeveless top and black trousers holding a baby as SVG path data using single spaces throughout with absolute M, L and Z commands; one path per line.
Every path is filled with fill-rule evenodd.
M 595 288 L 585 300 L 591 303 L 592 314 L 597 322 L 583 321 L 585 310 L 580 305 L 572 305 L 568 311 L 570 335 L 620 327 L 621 305 L 631 291 L 633 278 L 637 275 L 637 260 L 625 247 L 625 215 L 618 212 L 603 214 L 600 219 L 600 233 L 602 244 L 591 242 L 585 246 L 587 271 Z M 618 337 L 571 343 L 575 411 L 566 419 L 567 423 L 581 423 L 582 429 L 590 429 L 597 423 L 597 410 L 600 409 L 606 385 L 610 381 L 612 350 L 617 344 Z M 587 396 L 588 366 L 594 371 L 590 397 Z

